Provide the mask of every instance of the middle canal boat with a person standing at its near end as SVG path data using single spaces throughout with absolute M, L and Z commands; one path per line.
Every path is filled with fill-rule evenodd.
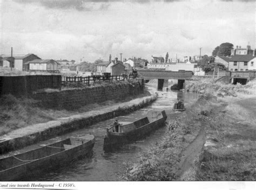
M 152 110 L 147 113 L 147 117 L 137 121 L 120 122 L 119 125 L 112 125 L 110 128 L 107 128 L 103 149 L 114 149 L 132 140 L 142 138 L 153 130 L 163 126 L 166 118 L 167 116 L 164 110 Z

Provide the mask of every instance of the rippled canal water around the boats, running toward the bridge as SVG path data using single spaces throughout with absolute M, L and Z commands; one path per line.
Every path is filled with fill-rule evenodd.
M 134 121 L 136 119 L 145 117 L 147 111 L 151 109 L 164 109 L 167 114 L 166 124 L 162 128 L 152 132 L 149 136 L 143 140 L 138 140 L 131 144 L 127 144 L 119 150 L 113 152 L 103 151 L 103 138 L 106 132 L 107 126 L 114 122 L 114 119 L 109 119 L 104 122 L 99 122 L 95 125 L 91 125 L 86 129 L 80 129 L 70 132 L 64 136 L 56 137 L 55 139 L 41 142 L 40 144 L 52 143 L 57 140 L 76 137 L 91 133 L 96 138 L 95 146 L 93 147 L 92 156 L 89 158 L 80 159 L 69 166 L 59 168 L 58 170 L 51 171 L 44 174 L 36 175 L 33 178 L 24 179 L 25 181 L 118 181 L 126 170 L 126 164 L 135 163 L 140 159 L 140 154 L 150 147 L 156 145 L 165 138 L 165 132 L 167 129 L 167 123 L 170 119 L 180 113 L 174 113 L 172 107 L 177 99 L 181 99 L 185 103 L 185 107 L 188 107 L 194 101 L 197 100 L 198 94 L 187 92 L 158 92 L 159 98 L 156 102 L 152 103 L 144 109 L 133 112 L 126 116 L 116 117 L 119 122 L 122 121 Z M 64 158 L 63 158 L 64 159 Z

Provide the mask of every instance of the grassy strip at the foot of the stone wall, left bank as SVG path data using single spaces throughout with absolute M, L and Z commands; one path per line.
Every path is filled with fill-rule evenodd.
M 118 85 L 118 83 L 108 85 L 115 86 Z M 46 91 L 47 90 L 48 89 L 46 89 Z M 16 98 L 12 95 L 3 95 L 0 97 L 0 136 L 12 130 L 23 128 L 28 125 L 45 123 L 56 120 L 60 117 L 69 117 L 71 115 L 76 115 L 91 110 L 104 109 L 110 105 L 117 105 L 120 102 L 127 102 L 133 100 L 134 98 L 150 95 L 150 93 L 146 90 L 144 92 L 144 94 L 127 97 L 123 101 L 110 100 L 103 103 L 93 103 L 72 111 L 65 109 L 45 109 L 38 107 L 38 102 L 35 100 L 28 98 Z

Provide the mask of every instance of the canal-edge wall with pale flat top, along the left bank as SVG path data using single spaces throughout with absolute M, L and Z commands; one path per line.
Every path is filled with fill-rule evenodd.
M 0 154 L 21 149 L 22 147 L 53 138 L 76 129 L 105 121 L 116 116 L 125 115 L 149 105 L 157 99 L 157 95 L 136 98 L 129 102 L 110 107 L 84 112 L 82 114 L 62 117 L 55 121 L 26 126 L 0 136 Z

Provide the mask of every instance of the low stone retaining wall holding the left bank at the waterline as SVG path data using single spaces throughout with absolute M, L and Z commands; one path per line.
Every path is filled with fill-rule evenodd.
M 129 114 L 130 112 L 146 107 L 156 99 L 157 95 L 153 95 L 151 97 L 143 98 L 142 101 L 137 104 L 131 104 L 121 108 L 119 107 L 111 111 L 106 111 L 103 114 L 94 114 L 91 116 L 80 115 L 77 117 L 70 117 L 56 123 L 54 123 L 55 121 L 50 121 L 45 123 L 45 125 L 48 125 L 48 128 L 44 130 L 30 132 L 27 135 L 23 135 L 17 138 L 8 139 L 8 137 L 6 137 L 6 139 L 3 139 L 2 142 L 0 139 L 0 154 L 21 149 L 22 147 L 35 144 L 42 140 L 50 139 L 73 130 L 86 128 L 87 126 L 100 121 L 105 121 L 113 117 Z

